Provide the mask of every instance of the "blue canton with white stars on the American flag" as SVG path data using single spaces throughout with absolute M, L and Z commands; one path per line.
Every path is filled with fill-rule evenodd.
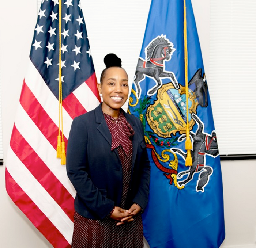
M 80 1 L 62 2 L 61 67 L 63 99 L 94 73 Z M 43 0 L 30 59 L 59 99 L 59 0 Z

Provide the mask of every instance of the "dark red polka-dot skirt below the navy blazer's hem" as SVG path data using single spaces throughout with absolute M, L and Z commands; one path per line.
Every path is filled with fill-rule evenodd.
M 75 212 L 72 248 L 143 248 L 141 215 L 117 226 L 112 219 L 90 220 Z

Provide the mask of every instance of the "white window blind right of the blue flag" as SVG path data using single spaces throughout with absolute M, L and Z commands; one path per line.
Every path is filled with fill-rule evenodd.
M 256 154 L 256 1 L 210 1 L 208 84 L 221 155 Z

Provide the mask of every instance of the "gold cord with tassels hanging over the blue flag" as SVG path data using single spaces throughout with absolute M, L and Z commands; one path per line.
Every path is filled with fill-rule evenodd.
M 187 157 L 185 166 L 192 166 L 192 157 L 190 150 L 192 149 L 192 142 L 189 135 L 188 126 L 188 45 L 187 45 L 187 11 L 186 0 L 184 0 L 184 61 L 185 61 L 185 86 L 186 86 L 186 111 L 187 111 L 187 128 L 186 128 L 186 141 L 185 149 L 187 150 Z

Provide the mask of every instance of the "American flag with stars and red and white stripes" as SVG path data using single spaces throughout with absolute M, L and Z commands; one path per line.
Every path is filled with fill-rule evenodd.
M 75 190 L 56 158 L 59 125 L 59 0 L 42 0 L 6 163 L 14 203 L 54 247 L 70 247 Z M 81 4 L 64 0 L 61 16 L 63 134 L 100 102 Z

